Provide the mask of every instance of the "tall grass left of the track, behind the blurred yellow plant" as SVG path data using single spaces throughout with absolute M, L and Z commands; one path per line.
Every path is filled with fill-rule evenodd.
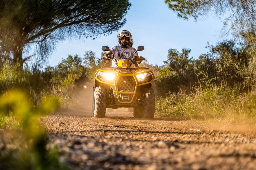
M 66 76 L 67 74 L 67 76 Z M 0 67 L 0 94 L 20 89 L 29 94 L 34 108 L 48 95 L 58 98 L 60 107 L 65 109 L 84 109 L 81 100 L 73 98 L 72 88 L 76 72 L 59 74 L 59 70 L 45 69 L 34 63 L 31 67 L 20 69 L 19 64 L 3 62 Z

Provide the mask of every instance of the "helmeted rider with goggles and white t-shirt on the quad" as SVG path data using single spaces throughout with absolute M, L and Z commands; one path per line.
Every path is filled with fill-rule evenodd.
M 123 30 L 118 35 L 118 42 L 119 45 L 112 46 L 110 50 L 114 53 L 114 56 L 116 57 L 117 61 L 120 59 L 130 59 L 133 57 L 133 53 L 136 51 L 135 48 L 131 47 L 133 44 L 132 41 L 132 35 L 129 31 Z M 131 43 L 132 42 L 132 43 Z M 111 52 L 107 52 L 102 58 L 107 59 L 108 55 L 112 55 Z M 136 52 L 134 55 L 138 56 L 138 53 Z M 138 57 L 138 59 L 144 59 L 142 56 Z M 137 63 L 141 63 L 141 61 L 137 61 Z M 134 66 L 138 67 L 138 64 L 135 63 Z M 107 61 L 104 65 L 104 67 L 109 66 L 115 67 L 117 66 L 114 61 Z

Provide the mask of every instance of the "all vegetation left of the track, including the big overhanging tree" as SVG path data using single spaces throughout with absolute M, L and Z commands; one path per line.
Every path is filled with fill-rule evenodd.
M 54 67 L 42 64 L 59 42 L 119 30 L 130 6 L 128 0 L 1 1 L 0 169 L 68 169 L 39 117 L 56 108 L 82 108 L 73 100 L 74 78 L 82 70 L 92 77 L 100 63 L 88 51 L 84 58 L 69 55 Z M 36 61 L 28 66 L 32 58 Z

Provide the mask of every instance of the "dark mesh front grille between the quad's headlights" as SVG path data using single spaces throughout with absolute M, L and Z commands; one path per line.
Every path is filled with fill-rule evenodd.
M 120 76 L 116 84 L 117 91 L 134 92 L 135 80 L 132 76 Z

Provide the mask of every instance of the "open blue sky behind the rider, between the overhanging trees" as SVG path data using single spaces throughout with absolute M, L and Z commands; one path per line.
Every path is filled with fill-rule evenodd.
M 219 32 L 223 26 L 221 20 L 209 17 L 206 20 L 194 22 L 178 18 L 169 10 L 164 0 L 130 0 L 132 6 L 126 14 L 126 24 L 119 30 L 128 30 L 132 34 L 133 47 L 143 45 L 145 49 L 139 51 L 139 55 L 147 58 L 151 64 L 162 65 L 167 59 L 168 49 L 174 48 L 181 51 L 182 48 L 190 48 L 190 57 L 198 58 L 206 53 L 207 42 L 215 45 L 222 41 Z M 119 32 L 118 31 L 118 32 Z M 48 65 L 54 66 L 61 62 L 61 58 L 67 58 L 69 54 L 78 54 L 83 57 L 85 51 L 92 50 L 100 57 L 101 46 L 118 45 L 117 34 L 101 36 L 95 40 L 90 38 L 80 41 L 65 41 L 58 45 L 53 52 Z

